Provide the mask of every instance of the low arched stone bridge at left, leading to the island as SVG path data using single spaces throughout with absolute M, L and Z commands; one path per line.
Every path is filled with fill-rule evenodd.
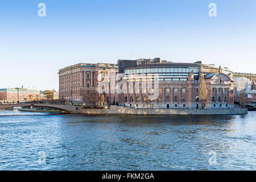
M 6 104 L 6 105 L 0 105 L 0 109 L 8 109 L 13 107 L 27 107 L 27 106 L 50 107 L 53 109 L 67 111 L 68 113 L 82 113 L 82 106 L 55 105 L 55 104 Z

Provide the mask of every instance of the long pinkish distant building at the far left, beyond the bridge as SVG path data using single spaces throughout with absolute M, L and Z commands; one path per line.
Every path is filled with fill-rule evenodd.
M 6 88 L 0 89 L 0 100 L 1 101 L 33 101 L 39 100 L 40 93 L 38 90 L 26 89 L 26 88 Z

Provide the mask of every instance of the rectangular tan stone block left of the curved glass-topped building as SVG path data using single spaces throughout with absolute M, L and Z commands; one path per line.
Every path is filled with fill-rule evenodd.
M 111 73 L 118 72 L 117 64 L 80 63 L 59 70 L 59 98 L 83 100 L 83 95 L 97 97 L 96 104 L 106 102 L 105 94 L 98 93 L 98 84 L 109 81 Z M 86 102 L 86 101 L 84 101 Z

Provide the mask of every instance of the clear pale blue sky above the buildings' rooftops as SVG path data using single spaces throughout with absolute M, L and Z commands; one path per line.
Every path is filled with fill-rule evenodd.
M 154 57 L 256 73 L 256 1 L 0 2 L 0 88 L 58 90 L 68 65 Z

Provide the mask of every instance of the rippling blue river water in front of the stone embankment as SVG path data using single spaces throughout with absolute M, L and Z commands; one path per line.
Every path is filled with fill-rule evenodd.
M 222 116 L 0 113 L 1 170 L 256 169 L 256 112 Z M 39 152 L 45 152 L 46 164 L 38 163 Z M 216 163 L 209 163 L 214 154 Z

